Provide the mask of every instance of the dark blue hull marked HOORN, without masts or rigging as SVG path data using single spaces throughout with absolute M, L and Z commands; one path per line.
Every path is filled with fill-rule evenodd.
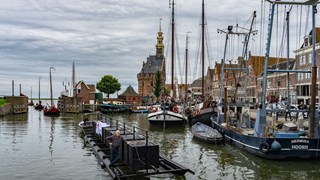
M 218 118 L 211 118 L 212 126 L 218 130 L 224 140 L 249 153 L 265 159 L 319 159 L 320 139 L 307 138 L 301 132 L 278 132 L 274 137 L 254 136 L 253 129 L 239 129 Z

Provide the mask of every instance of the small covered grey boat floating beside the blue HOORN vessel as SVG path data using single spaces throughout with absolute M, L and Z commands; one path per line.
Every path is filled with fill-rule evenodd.
M 193 137 L 200 141 L 215 144 L 223 142 L 223 137 L 217 130 L 200 122 L 194 124 L 191 131 Z

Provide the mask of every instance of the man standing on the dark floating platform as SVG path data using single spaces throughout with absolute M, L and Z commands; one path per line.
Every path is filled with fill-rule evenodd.
M 124 141 L 123 137 L 120 135 L 120 131 L 116 130 L 115 134 L 107 137 L 111 141 L 110 146 L 110 164 L 109 167 L 114 166 L 121 159 L 120 146 Z

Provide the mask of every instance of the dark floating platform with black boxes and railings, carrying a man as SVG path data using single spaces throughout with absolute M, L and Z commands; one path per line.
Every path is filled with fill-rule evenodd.
M 159 155 L 159 145 L 148 140 L 148 131 L 139 127 L 127 125 L 124 122 L 108 119 L 99 114 L 100 121 L 88 121 L 82 124 L 85 141 L 91 146 L 104 168 L 112 179 L 127 179 L 156 174 L 184 175 L 194 172 L 166 157 Z M 100 128 L 101 122 L 105 127 Z M 98 129 L 97 129 L 98 128 Z M 110 148 L 107 137 L 120 130 L 125 140 L 120 146 L 122 160 L 110 168 Z

